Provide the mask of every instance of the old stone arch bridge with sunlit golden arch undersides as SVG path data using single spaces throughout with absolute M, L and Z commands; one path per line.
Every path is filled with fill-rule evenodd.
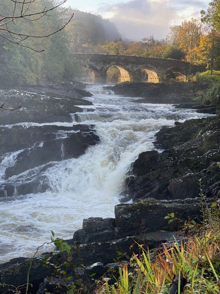
M 160 76 L 172 72 L 176 79 L 186 79 L 187 63 L 175 59 L 141 57 L 131 55 L 74 53 L 85 62 L 85 66 L 94 74 L 94 83 L 106 83 L 107 70 L 116 66 L 121 73 L 121 82 L 130 81 L 143 69 L 148 82 L 158 83 Z

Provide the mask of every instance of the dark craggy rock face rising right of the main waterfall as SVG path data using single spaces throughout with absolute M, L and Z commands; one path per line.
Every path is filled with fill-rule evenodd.
M 193 119 L 163 128 L 155 145 L 169 149 L 139 155 L 128 174 L 127 191 L 134 201 L 194 198 L 202 178 L 204 194 L 220 197 L 220 117 Z

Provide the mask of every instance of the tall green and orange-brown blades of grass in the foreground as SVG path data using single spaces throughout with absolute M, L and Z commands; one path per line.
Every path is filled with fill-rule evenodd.
M 106 281 L 96 293 L 170 293 L 169 287 L 175 275 L 186 280 L 182 293 L 220 293 L 220 269 L 215 269 L 215 263 L 219 260 L 219 243 L 216 242 L 218 237 L 210 231 L 203 238 L 188 240 L 185 245 L 182 242 L 178 245 L 176 241 L 170 248 L 163 245 L 163 253 L 156 255 L 154 262 L 150 260 L 149 251 L 142 248 L 139 257 L 133 254 L 135 262 L 130 273 L 124 264 L 123 270 L 119 268 L 119 280 L 114 285 L 109 285 Z

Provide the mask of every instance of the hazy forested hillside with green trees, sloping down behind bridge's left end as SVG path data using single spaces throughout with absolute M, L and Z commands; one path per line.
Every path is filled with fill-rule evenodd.
M 61 1 L 36 1 L 28 8 L 28 12 L 53 7 Z M 13 2 L 0 1 L 0 14 L 13 15 Z M 19 14 L 21 6 L 16 7 Z M 51 11 L 50 16 L 36 21 L 17 20 L 10 22 L 8 27 L 13 32 L 22 32 L 33 36 L 48 35 L 57 27 L 61 28 L 68 21 L 71 13 L 74 18 L 65 29 L 47 38 L 31 38 L 18 44 L 7 43 L 4 35 L 0 36 L 0 87 L 15 87 L 24 84 L 44 84 L 45 82 L 60 82 L 72 80 L 82 73 L 79 62 L 72 56 L 72 52 L 80 52 L 82 48 L 95 46 L 119 37 L 114 24 L 103 20 L 99 16 L 59 8 Z M 2 34 L 4 30 L 1 31 Z M 12 40 L 18 41 L 19 36 L 12 34 Z M 27 47 L 31 47 L 35 52 Z M 95 50 L 95 49 L 94 49 Z

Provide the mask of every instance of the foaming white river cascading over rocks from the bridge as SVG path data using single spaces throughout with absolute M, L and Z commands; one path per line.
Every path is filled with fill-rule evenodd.
M 78 113 L 79 121 L 95 124 L 101 143 L 89 147 L 77 159 L 48 168 L 44 173 L 50 191 L 0 198 L 0 263 L 31 256 L 38 245 L 50 240 L 50 230 L 56 237 L 72 238 L 84 218 L 114 217 L 126 173 L 139 153 L 154 149 L 155 133 L 162 126 L 174 126 L 175 121 L 205 116 L 167 104 L 131 102 L 134 98 L 116 96 L 101 85 L 91 84 L 87 90 L 94 94 L 86 98 L 93 105 L 84 106 L 87 111 Z M 71 126 L 77 122 L 50 124 Z M 16 154 L 5 156 L 0 177 L 7 166 L 14 164 Z

